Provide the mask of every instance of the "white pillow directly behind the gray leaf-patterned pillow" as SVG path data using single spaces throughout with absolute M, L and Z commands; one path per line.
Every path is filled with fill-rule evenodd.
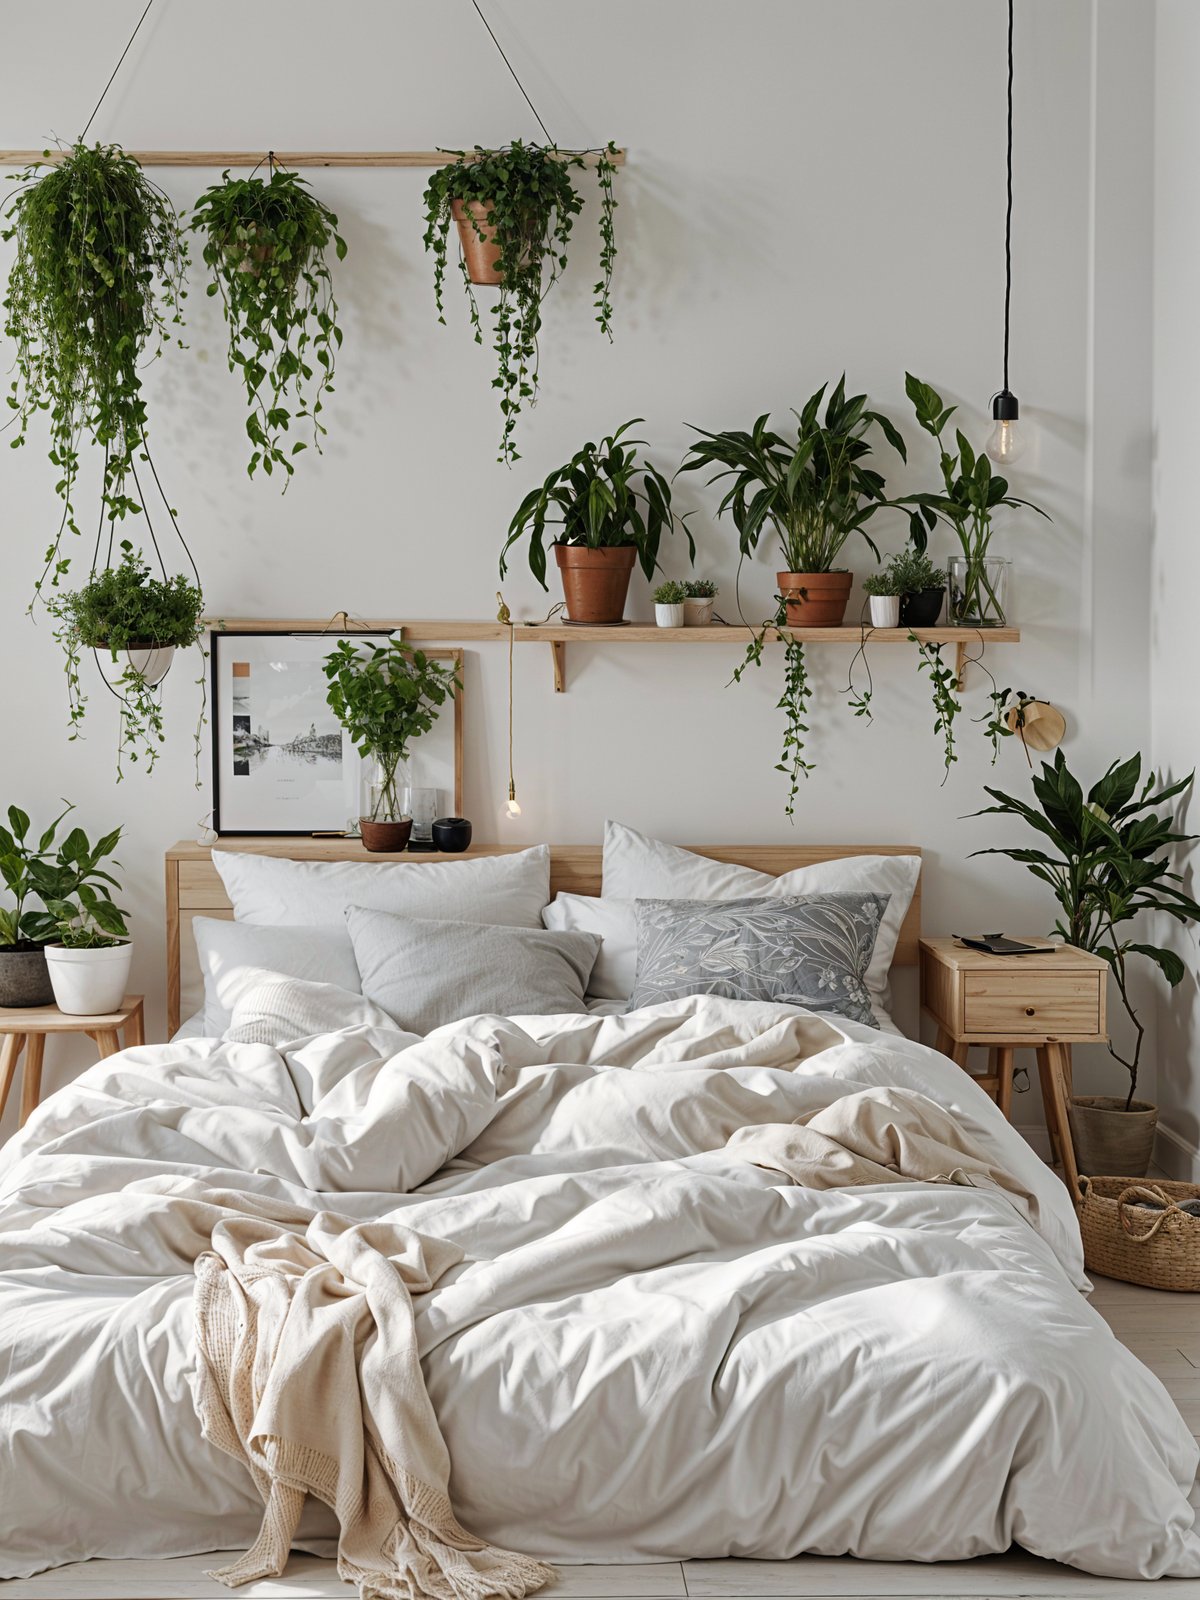
M 754 867 L 738 867 L 725 861 L 709 861 L 678 845 L 648 838 L 621 822 L 605 822 L 605 864 L 600 893 L 603 899 L 632 902 L 637 899 L 741 899 L 750 894 L 886 894 L 888 904 L 867 968 L 870 1010 L 880 1027 L 899 1032 L 891 1021 L 888 970 L 896 954 L 896 941 L 909 914 L 920 877 L 920 856 L 840 856 L 797 867 L 778 878 Z M 637 917 L 630 906 L 637 949 Z M 624 971 L 622 971 L 624 976 Z M 627 994 L 632 994 L 630 981 Z

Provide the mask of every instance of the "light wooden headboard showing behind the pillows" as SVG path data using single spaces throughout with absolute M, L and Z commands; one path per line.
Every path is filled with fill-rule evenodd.
M 402 861 L 421 869 L 434 861 L 478 861 L 480 856 L 509 856 L 528 845 L 478 845 L 456 856 L 371 854 L 357 838 L 243 838 L 224 837 L 216 850 L 245 850 L 259 856 L 283 856 L 288 861 Z M 754 867 L 779 877 L 818 861 L 842 856 L 918 856 L 912 845 L 686 845 L 698 856 Z M 550 894 L 598 894 L 603 851 L 600 845 L 550 845 Z M 232 918 L 221 874 L 213 866 L 213 850 L 187 840 L 166 851 L 166 1027 L 174 1034 L 184 1014 L 190 1016 L 203 1003 L 203 986 L 192 938 L 194 917 Z M 894 966 L 915 966 L 922 933 L 922 886 L 909 906 L 896 944 Z

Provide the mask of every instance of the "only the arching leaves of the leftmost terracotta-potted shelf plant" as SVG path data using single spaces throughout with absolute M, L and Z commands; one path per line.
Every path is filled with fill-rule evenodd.
M 640 416 L 622 422 L 598 445 L 589 440 L 539 488 L 530 490 L 509 523 L 509 538 L 501 550 L 501 578 L 507 576 L 512 546 L 528 538 L 530 570 L 542 589 L 547 587 L 547 525 L 560 528 L 557 544 L 584 544 L 592 550 L 635 546 L 646 578 L 654 576 L 664 531 L 682 528 L 690 560 L 696 560 L 696 542 L 686 518 L 670 509 L 670 485 L 650 461 L 645 466 L 638 461 L 638 446 L 645 446 L 645 440 L 624 437 L 638 422 Z

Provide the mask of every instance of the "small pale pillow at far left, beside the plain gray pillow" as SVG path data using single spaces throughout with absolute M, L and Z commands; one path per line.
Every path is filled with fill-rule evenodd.
M 358 965 L 346 926 L 259 928 L 254 923 L 194 917 L 195 954 L 205 979 L 205 1034 L 219 1038 L 234 1006 L 262 970 L 315 979 L 362 994 Z

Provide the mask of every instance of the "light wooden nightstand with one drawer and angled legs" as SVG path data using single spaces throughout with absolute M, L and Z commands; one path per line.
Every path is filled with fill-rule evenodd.
M 1013 1051 L 1037 1051 L 1051 1150 L 1077 1195 L 1067 1120 L 1070 1045 L 1107 1042 L 1107 962 L 1069 944 L 1050 955 L 986 955 L 947 938 L 922 939 L 920 962 L 922 1005 L 938 1024 L 936 1048 L 968 1070 L 971 1045 L 986 1045 L 989 1070 L 976 1083 L 1005 1117 L 1013 1104 Z

